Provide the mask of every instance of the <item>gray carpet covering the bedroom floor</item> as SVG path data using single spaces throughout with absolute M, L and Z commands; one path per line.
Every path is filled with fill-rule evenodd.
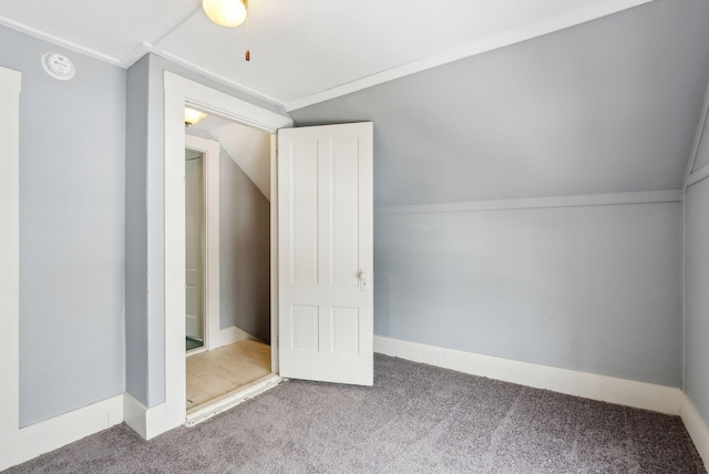
M 377 356 L 150 442 L 114 426 L 9 473 L 703 473 L 667 416 Z

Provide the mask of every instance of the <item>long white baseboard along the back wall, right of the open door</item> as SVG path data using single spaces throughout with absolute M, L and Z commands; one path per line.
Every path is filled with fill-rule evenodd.
M 520 362 L 380 336 L 374 337 L 374 352 L 536 389 L 671 415 L 680 414 L 682 392 L 672 387 Z

